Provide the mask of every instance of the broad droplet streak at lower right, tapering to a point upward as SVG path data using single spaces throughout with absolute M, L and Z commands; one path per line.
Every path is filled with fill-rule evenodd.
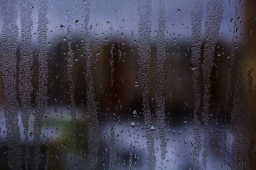
M 233 125 L 232 135 L 232 166 L 231 169 L 250 169 L 249 168 L 249 115 L 250 109 L 245 98 L 245 91 L 242 82 L 242 74 L 237 73 L 235 83 L 235 95 L 233 108 L 231 111 L 231 122 Z

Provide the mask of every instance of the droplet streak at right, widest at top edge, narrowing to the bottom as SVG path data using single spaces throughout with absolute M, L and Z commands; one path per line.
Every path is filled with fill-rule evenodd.
M 203 139 L 203 166 L 207 168 L 208 162 L 208 140 L 206 135 L 209 122 L 209 108 L 210 108 L 210 88 L 212 81 L 210 80 L 211 72 L 214 65 L 214 52 L 216 43 L 218 41 L 218 34 L 220 30 L 220 23 L 223 18 L 223 1 L 208 0 L 207 3 L 207 18 L 206 18 L 206 45 L 203 49 L 203 123 L 204 134 Z

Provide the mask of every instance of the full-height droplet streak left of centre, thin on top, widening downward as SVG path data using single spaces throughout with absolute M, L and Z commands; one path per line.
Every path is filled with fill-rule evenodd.
M 96 169 L 98 162 L 98 152 L 100 145 L 100 125 L 97 114 L 97 103 L 92 78 L 92 54 L 90 50 L 89 35 L 90 1 L 85 1 L 85 46 L 84 56 L 86 57 L 86 75 L 87 81 L 87 125 L 88 125 L 88 148 L 89 148 L 89 169 Z

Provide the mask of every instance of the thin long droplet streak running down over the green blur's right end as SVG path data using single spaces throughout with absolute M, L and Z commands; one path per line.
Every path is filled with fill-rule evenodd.
M 71 26 L 70 26 L 70 17 L 68 17 L 68 56 L 67 56 L 67 69 L 68 69 L 68 87 L 69 87 L 69 97 L 70 97 L 70 115 L 72 123 L 72 140 L 73 140 L 73 166 L 75 166 L 75 120 L 76 120 L 76 109 L 75 109 L 75 84 L 73 80 L 73 64 L 74 56 L 73 50 L 71 48 L 72 36 L 71 36 Z M 73 167 L 74 169 L 75 167 Z

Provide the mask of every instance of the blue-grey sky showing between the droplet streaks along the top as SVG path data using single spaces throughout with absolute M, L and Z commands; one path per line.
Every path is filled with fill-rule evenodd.
M 2 4 L 0 0 L 0 4 Z M 223 22 L 220 25 L 220 40 L 230 42 L 233 37 L 233 22 L 230 23 L 230 19 L 235 17 L 235 6 L 231 1 L 224 1 L 224 13 Z M 21 1 L 18 1 L 18 11 L 21 13 L 20 6 Z M 37 27 L 37 3 L 34 1 L 35 8 L 33 9 L 34 27 L 33 32 L 36 33 Z M 158 23 L 158 0 L 152 1 L 152 37 L 155 35 Z M 240 4 L 241 8 L 242 4 Z M 166 39 L 171 40 L 175 35 L 181 35 L 181 40 L 188 40 L 191 37 L 191 10 L 193 8 L 193 1 L 187 0 L 166 0 Z M 0 9 L 1 10 L 1 9 Z M 67 12 L 68 11 L 68 12 Z M 204 35 L 204 23 L 206 21 L 206 1 L 204 1 L 203 11 L 203 31 Z M 52 39 L 55 35 L 65 35 L 66 29 L 60 28 L 60 25 L 68 25 L 68 16 L 70 16 L 70 25 L 72 26 L 72 33 L 81 34 L 82 21 L 83 21 L 83 2 L 80 0 L 49 0 L 48 4 L 48 20 L 50 21 L 48 28 L 48 38 Z M 134 34 L 137 34 L 138 29 L 137 16 L 137 0 L 95 0 L 90 1 L 90 23 L 92 26 L 90 30 L 91 37 L 104 33 L 107 37 L 111 33 L 124 33 L 124 36 L 130 37 L 132 30 Z M 78 23 L 75 21 L 78 20 Z M 20 20 L 18 18 L 18 23 Z M 1 31 L 2 19 L 0 17 L 0 31 Z M 121 28 L 122 27 L 122 28 Z M 240 28 L 242 28 L 240 26 Z M 21 26 L 19 26 L 21 29 Z M 36 37 L 34 37 L 36 38 Z M 98 38 L 101 38 L 100 36 Z M 135 37 L 136 38 L 136 37 Z

